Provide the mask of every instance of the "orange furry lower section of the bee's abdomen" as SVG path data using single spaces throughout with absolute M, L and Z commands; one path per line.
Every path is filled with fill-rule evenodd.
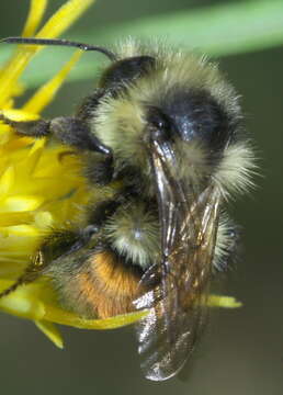
M 111 251 L 93 253 L 69 282 L 60 286 L 64 302 L 88 318 L 133 312 L 139 276 Z

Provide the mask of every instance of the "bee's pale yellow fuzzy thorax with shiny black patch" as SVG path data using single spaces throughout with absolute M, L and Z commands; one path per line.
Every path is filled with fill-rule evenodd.
M 102 75 L 106 93 L 91 121 L 93 133 L 113 151 L 114 174 L 131 173 L 127 182 L 154 193 L 151 153 L 158 142 L 165 160 L 171 151 L 174 177 L 205 182 L 215 176 L 225 184 L 223 167 L 230 168 L 228 177 L 236 174 L 249 156 L 237 148 L 239 161 L 225 162 L 229 147 L 239 147 L 241 114 L 234 89 L 201 57 L 135 45 Z

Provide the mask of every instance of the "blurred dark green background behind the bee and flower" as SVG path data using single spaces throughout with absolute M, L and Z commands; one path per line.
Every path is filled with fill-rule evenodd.
M 48 12 L 61 3 L 52 0 Z M 64 36 L 81 38 L 90 29 L 100 32 L 132 19 L 183 10 L 193 12 L 200 7 L 227 3 L 229 1 L 100 0 Z M 0 2 L 1 37 L 21 33 L 27 9 L 29 0 Z M 239 20 L 239 35 L 241 29 Z M 134 29 L 132 34 L 138 35 Z M 165 34 L 170 37 L 170 31 Z M 190 40 L 188 35 L 188 46 L 194 46 Z M 92 43 L 97 44 L 95 37 Z M 55 50 L 61 53 L 58 48 L 46 53 L 54 56 Z M 64 50 L 67 60 L 69 53 Z M 84 60 L 88 56 L 89 65 L 100 63 L 90 54 L 84 55 Z M 32 323 L 2 314 L 1 393 L 282 394 L 283 47 L 229 55 L 219 58 L 219 64 L 242 97 L 247 129 L 254 139 L 262 176 L 256 180 L 257 190 L 230 207 L 235 219 L 242 225 L 245 248 L 236 268 L 227 273 L 224 292 L 235 295 L 245 306 L 235 311 L 212 311 L 206 335 L 185 369 L 188 377 L 159 384 L 145 381 L 140 374 L 132 328 L 82 331 L 64 327 L 66 348 L 60 351 Z M 71 113 L 92 84 L 93 81 L 66 84 L 45 112 L 46 116 Z

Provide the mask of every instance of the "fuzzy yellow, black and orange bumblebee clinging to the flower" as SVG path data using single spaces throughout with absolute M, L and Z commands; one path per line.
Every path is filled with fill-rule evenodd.
M 0 296 L 47 275 L 61 304 L 83 317 L 147 308 L 136 325 L 142 369 L 154 381 L 176 375 L 205 323 L 213 272 L 235 253 L 225 204 L 251 183 L 239 97 L 215 64 L 160 44 L 128 40 L 111 52 L 2 42 L 97 50 L 110 65 L 73 116 L 1 115 L 19 134 L 71 147 L 92 199 L 77 224 L 50 230 Z

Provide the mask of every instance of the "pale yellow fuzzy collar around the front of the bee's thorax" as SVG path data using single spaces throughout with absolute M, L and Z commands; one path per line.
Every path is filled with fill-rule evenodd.
M 142 45 L 133 40 L 121 44 L 117 54 L 118 58 L 148 55 L 156 63 L 146 76 L 127 82 L 117 97 L 105 95 L 93 114 L 91 128 L 113 149 L 116 168 L 127 162 L 142 169 L 146 179 L 150 177 L 145 109 L 161 105 L 178 90 L 206 91 L 235 124 L 241 119 L 234 88 L 205 57 L 160 44 Z M 201 156 L 203 153 L 195 150 L 192 158 L 196 157 L 197 161 Z

